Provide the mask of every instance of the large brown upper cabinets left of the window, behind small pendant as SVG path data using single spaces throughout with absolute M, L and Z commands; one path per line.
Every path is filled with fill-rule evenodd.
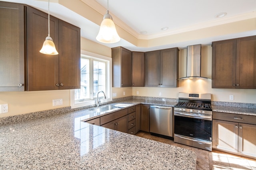
M 50 16 L 50 36 L 59 55 L 40 49 L 48 14 L 24 4 L 0 2 L 2 54 L 0 91 L 80 88 L 80 28 Z

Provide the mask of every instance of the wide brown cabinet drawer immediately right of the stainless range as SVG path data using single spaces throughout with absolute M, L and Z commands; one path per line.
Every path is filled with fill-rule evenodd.
M 212 113 L 212 119 L 226 120 L 240 123 L 248 123 L 256 125 L 256 116 L 252 115 L 241 115 L 233 113 L 216 112 Z

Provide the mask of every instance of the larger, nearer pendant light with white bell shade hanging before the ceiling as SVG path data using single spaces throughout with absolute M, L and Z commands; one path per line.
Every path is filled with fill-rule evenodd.
M 108 13 L 104 15 L 103 21 L 100 24 L 100 31 L 96 37 L 97 41 L 101 43 L 116 43 L 120 41 L 120 37 L 116 32 L 116 26 L 113 22 L 112 16 Z

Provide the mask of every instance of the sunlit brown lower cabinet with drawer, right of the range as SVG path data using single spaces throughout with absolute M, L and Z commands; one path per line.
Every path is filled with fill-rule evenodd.
M 256 116 L 214 112 L 212 148 L 256 157 Z

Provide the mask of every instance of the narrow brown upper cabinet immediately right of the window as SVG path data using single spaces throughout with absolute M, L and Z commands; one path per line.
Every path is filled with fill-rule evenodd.
M 131 87 L 132 51 L 112 48 L 112 87 Z

